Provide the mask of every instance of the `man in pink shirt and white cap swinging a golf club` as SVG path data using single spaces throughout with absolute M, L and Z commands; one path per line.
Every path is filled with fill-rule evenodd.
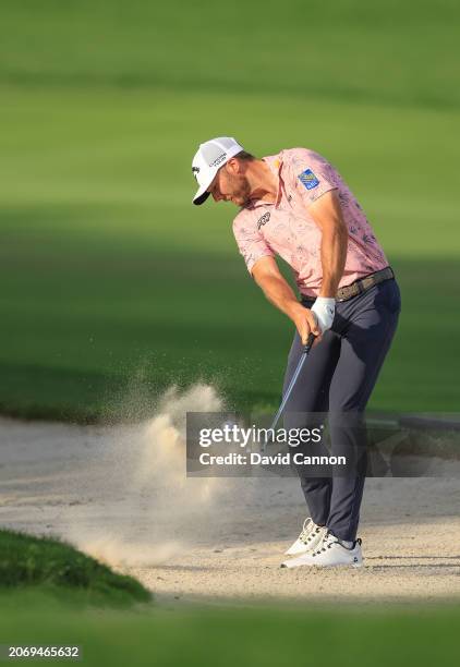
M 301 425 L 299 414 L 328 413 L 330 453 L 352 452 L 361 464 L 338 476 L 300 472 L 310 517 L 282 567 L 360 567 L 362 429 L 330 419 L 347 415 L 356 426 L 365 410 L 401 307 L 394 271 L 355 197 L 314 150 L 288 148 L 257 159 L 234 138 L 218 137 L 201 144 L 192 171 L 198 183 L 194 204 L 211 195 L 240 208 L 233 233 L 247 270 L 295 325 L 285 391 L 302 345 L 311 332 L 317 337 L 286 407 L 285 426 Z M 280 274 L 277 255 L 291 266 L 300 299 Z

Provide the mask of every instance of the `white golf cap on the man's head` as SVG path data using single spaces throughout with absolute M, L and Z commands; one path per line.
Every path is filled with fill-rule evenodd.
M 207 189 L 214 177 L 230 158 L 244 150 L 243 146 L 232 136 L 218 136 L 199 144 L 192 161 L 192 172 L 198 183 L 198 190 L 193 197 L 194 204 L 204 204 L 209 196 Z

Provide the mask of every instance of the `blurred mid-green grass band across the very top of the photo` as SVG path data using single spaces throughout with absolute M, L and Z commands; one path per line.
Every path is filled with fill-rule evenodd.
M 44 0 L 39 12 L 3 0 L 0 72 L 25 85 L 263 92 L 267 107 L 294 94 L 455 108 L 458 15 L 455 0 L 332 0 L 322 11 L 301 0 Z

